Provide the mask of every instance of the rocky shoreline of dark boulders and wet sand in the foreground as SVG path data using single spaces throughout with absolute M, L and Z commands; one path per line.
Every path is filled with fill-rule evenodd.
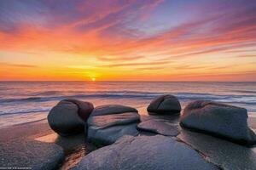
M 22 138 L 5 132 L 0 167 L 256 169 L 256 137 L 245 109 L 194 101 L 180 114 L 177 98 L 164 95 L 148 105 L 148 115 L 140 111 L 62 100 L 49 112 L 46 135 L 42 127 L 31 129 L 37 123 Z

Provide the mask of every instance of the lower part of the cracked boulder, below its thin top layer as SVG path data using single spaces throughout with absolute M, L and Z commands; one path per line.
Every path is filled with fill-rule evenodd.
M 90 116 L 87 139 L 99 145 L 113 144 L 124 135 L 135 136 L 140 116 L 137 112 L 126 112 L 105 116 Z

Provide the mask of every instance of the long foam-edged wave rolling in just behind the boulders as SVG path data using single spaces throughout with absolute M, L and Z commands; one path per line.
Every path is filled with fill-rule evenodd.
M 168 94 L 164 92 L 137 92 L 137 91 L 108 91 L 108 92 L 89 92 L 87 94 L 73 94 L 73 95 L 59 95 L 59 96 L 38 96 L 28 98 L 15 98 L 15 99 L 0 99 L 0 105 L 7 103 L 22 103 L 22 102 L 47 102 L 61 99 L 91 99 L 91 98 L 109 98 L 109 99 L 154 99 L 155 97 Z M 256 95 L 220 95 L 220 94 L 207 94 L 207 93 L 176 93 L 173 94 L 180 100 L 219 100 L 226 102 L 241 102 L 249 105 L 256 103 Z

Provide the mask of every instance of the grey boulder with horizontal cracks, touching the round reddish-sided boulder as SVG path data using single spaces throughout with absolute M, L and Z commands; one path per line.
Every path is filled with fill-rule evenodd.
M 87 139 L 98 145 L 113 144 L 124 135 L 135 136 L 140 116 L 125 105 L 97 106 L 88 119 Z

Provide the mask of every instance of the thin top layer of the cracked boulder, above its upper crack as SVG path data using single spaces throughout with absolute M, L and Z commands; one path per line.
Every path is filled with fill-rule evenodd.
M 91 116 L 112 115 L 126 112 L 137 112 L 137 110 L 125 105 L 99 105 L 92 111 Z

